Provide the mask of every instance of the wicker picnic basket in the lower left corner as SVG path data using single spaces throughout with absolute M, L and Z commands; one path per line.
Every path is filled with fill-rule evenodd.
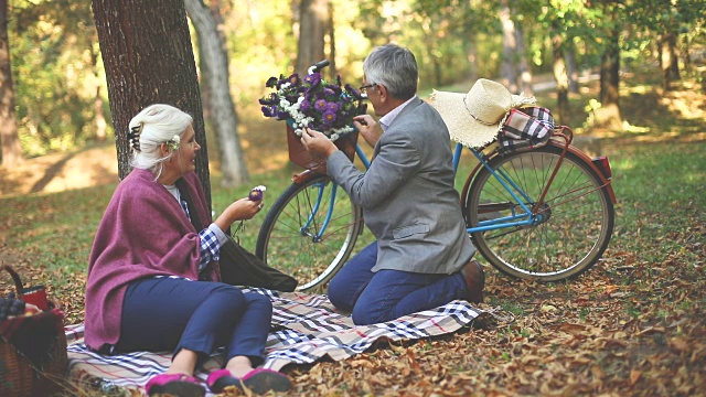
M 18 297 L 22 285 L 15 280 Z M 46 397 L 61 389 L 67 368 L 64 313 L 50 309 L 34 315 L 20 315 L 0 322 L 0 396 Z

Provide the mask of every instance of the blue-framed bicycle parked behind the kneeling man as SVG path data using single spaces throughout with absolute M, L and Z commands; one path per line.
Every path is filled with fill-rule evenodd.
M 571 146 L 573 137 L 558 126 L 542 148 L 505 153 L 498 140 L 467 148 L 479 161 L 460 195 L 467 232 L 481 256 L 512 278 L 575 279 L 610 243 L 617 202 L 610 163 L 590 159 Z M 454 172 L 463 148 L 456 143 Z M 370 168 L 357 143 L 355 154 Z M 297 278 L 298 290 L 311 291 L 341 269 L 363 229 L 363 211 L 345 191 L 304 170 L 266 215 L 256 255 Z

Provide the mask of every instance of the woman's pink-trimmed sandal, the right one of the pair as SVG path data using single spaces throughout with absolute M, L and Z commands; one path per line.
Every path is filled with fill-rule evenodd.
M 242 378 L 233 376 L 228 369 L 214 371 L 208 375 L 206 385 L 216 394 L 228 386 L 235 386 L 240 390 L 247 388 L 258 395 L 267 391 L 287 391 L 291 387 L 285 374 L 265 368 L 253 369 Z

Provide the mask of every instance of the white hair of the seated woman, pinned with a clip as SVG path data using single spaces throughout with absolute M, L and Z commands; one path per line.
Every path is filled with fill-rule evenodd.
M 172 150 L 165 157 L 160 152 L 162 143 L 174 142 L 174 136 L 181 135 L 193 122 L 193 118 L 170 105 L 154 104 L 146 107 L 130 120 L 130 131 L 139 136 L 139 147 L 133 144 L 133 154 L 130 164 L 133 168 L 151 170 L 159 175 L 164 161 L 174 155 Z

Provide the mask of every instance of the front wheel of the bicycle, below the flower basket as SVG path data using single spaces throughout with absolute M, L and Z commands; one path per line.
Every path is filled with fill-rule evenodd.
M 325 285 L 347 260 L 363 230 L 363 211 L 327 175 L 290 185 L 268 212 L 256 255 L 299 281 Z

